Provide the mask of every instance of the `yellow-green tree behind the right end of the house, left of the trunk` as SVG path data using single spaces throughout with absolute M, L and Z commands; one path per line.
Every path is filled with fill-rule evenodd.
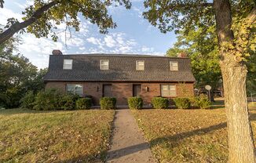
M 215 26 L 200 24 L 185 32 L 179 31 L 177 42 L 166 52 L 166 56 L 177 56 L 187 53 L 191 59 L 192 72 L 196 78 L 196 87 L 212 87 L 211 101 L 214 101 L 214 90 L 218 89 L 221 80 L 221 69 L 218 63 L 218 40 Z

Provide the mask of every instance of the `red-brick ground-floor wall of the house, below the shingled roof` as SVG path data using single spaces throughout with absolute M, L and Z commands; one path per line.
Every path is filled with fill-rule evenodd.
M 144 105 L 151 103 L 154 96 L 161 96 L 160 85 L 176 85 L 177 96 L 194 96 L 193 83 L 155 83 L 155 82 L 47 82 L 46 89 L 60 89 L 66 91 L 67 84 L 83 85 L 84 96 L 93 96 L 94 105 L 99 105 L 100 98 L 103 96 L 103 85 L 112 84 L 112 96 L 115 96 L 117 105 L 127 105 L 127 98 L 133 96 L 133 84 L 141 85 L 141 98 Z M 169 97 L 174 98 L 174 97 Z

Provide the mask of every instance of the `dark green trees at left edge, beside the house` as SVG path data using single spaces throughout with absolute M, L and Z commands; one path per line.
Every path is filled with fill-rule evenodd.
M 26 57 L 13 55 L 19 42 L 19 38 L 11 38 L 0 45 L 0 105 L 5 108 L 19 107 L 26 92 L 44 88 L 46 69 L 37 71 Z

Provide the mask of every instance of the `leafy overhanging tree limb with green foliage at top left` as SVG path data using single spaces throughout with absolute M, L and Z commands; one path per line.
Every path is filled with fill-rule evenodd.
M 57 41 L 57 25 L 64 23 L 69 27 L 74 27 L 79 31 L 79 13 L 92 24 L 97 24 L 101 33 L 108 32 L 108 28 L 116 27 L 112 16 L 108 15 L 109 5 L 125 5 L 130 9 L 129 0 L 35 0 L 34 5 L 28 6 L 23 14 L 23 22 L 15 18 L 9 18 L 5 26 L 5 31 L 0 33 L 0 44 L 8 40 L 13 34 L 29 32 L 35 34 L 37 38 L 48 37 Z M 3 7 L 4 2 L 0 1 Z

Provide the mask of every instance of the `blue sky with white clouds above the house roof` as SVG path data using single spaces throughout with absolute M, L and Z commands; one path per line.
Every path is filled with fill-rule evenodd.
M 65 37 L 65 25 L 58 26 L 58 41 L 51 38 L 35 38 L 33 34 L 21 34 L 22 43 L 18 52 L 26 56 L 38 68 L 48 67 L 49 55 L 53 49 L 60 49 L 64 54 L 115 53 L 148 54 L 163 56 L 174 42 L 174 32 L 163 34 L 142 16 L 143 0 L 131 0 L 131 9 L 124 6 L 110 6 L 108 12 L 117 24 L 108 34 L 100 34 L 98 27 L 79 16 L 80 31 L 72 31 L 71 37 Z M 5 25 L 8 18 L 21 20 L 22 11 L 33 4 L 33 0 L 5 0 L 0 9 L 0 24 Z M 68 38 L 68 39 L 65 39 Z

